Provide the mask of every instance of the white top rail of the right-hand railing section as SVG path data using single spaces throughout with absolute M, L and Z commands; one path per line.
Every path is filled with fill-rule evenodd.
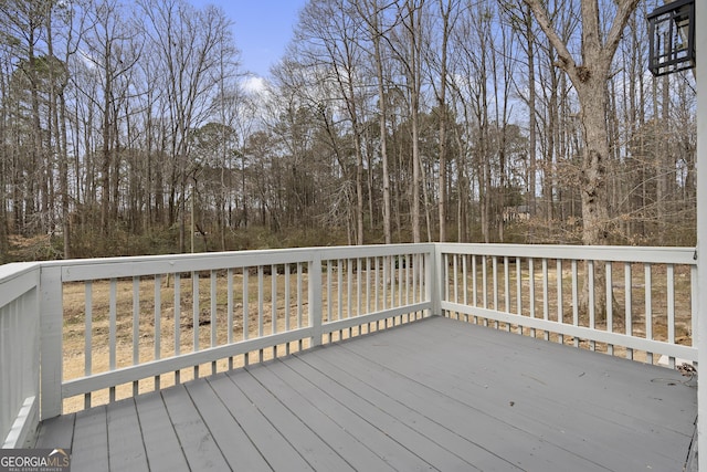
M 653 264 L 697 264 L 695 259 L 695 248 L 437 243 L 436 250 L 442 253 L 452 252 L 469 255 L 576 259 L 612 262 L 644 262 Z

